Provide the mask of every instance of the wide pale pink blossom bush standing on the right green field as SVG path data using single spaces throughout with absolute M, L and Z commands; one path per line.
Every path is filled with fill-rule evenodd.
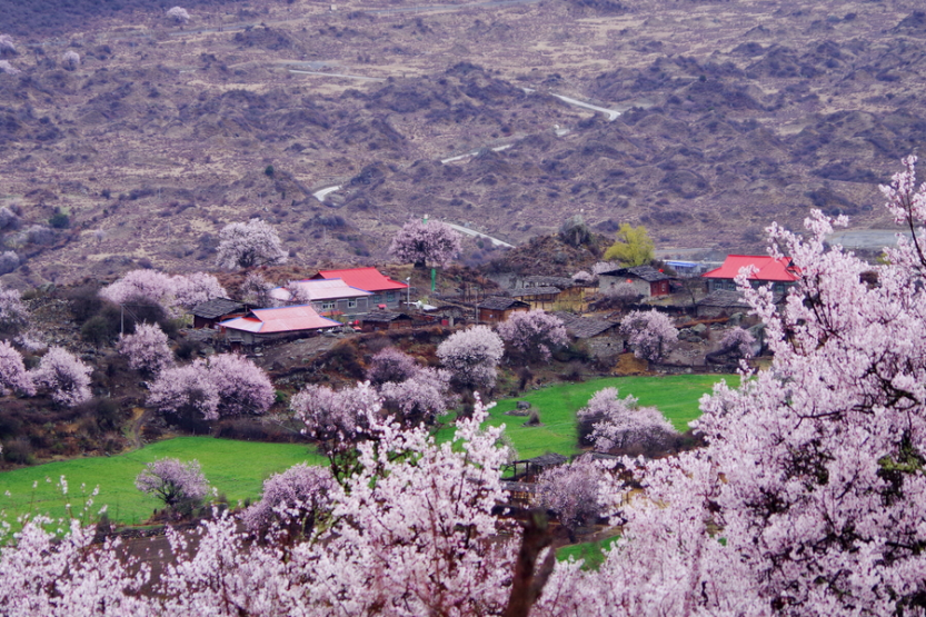
M 607 452 L 614 449 L 661 449 L 678 436 L 655 407 L 640 407 L 633 396 L 619 398 L 617 388 L 595 392 L 586 407 L 576 414 L 579 438 Z

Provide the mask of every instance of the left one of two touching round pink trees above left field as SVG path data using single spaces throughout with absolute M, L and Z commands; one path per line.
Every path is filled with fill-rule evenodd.
M 148 390 L 147 404 L 181 420 L 219 418 L 219 389 L 202 360 L 162 370 Z

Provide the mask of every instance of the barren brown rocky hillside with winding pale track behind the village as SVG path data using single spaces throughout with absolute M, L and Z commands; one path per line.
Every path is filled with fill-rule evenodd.
M 915 2 L 172 3 L 0 2 L 7 283 L 208 270 L 251 216 L 306 269 L 425 213 L 759 250 L 813 207 L 889 227 L 877 183 L 926 137 Z

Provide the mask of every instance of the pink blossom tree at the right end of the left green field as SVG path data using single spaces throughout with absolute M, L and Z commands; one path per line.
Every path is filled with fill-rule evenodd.
M 333 487 L 329 469 L 300 462 L 266 479 L 260 501 L 248 507 L 241 518 L 253 531 L 266 533 L 279 525 L 290 537 L 306 536 L 331 508 L 329 494 Z

